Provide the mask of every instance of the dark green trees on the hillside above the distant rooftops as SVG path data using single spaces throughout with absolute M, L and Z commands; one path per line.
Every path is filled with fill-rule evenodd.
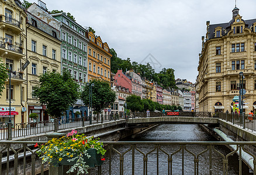
M 109 51 L 112 54 L 111 72 L 116 74 L 117 70 L 119 69 L 122 69 L 123 71 L 133 69 L 135 72 L 139 72 L 141 77 L 153 82 L 158 82 L 158 84 L 163 88 L 177 88 L 175 86 L 174 69 L 163 68 L 162 71 L 156 73 L 149 63 L 146 65 L 138 64 L 136 61 L 131 62 L 130 58 L 122 60 L 121 58 L 117 57 L 117 53 L 113 48 L 111 48 Z

